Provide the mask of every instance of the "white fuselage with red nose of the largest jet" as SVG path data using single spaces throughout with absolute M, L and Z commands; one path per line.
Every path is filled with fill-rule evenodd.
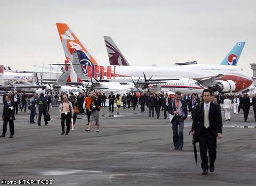
M 231 65 L 182 65 L 173 67 L 158 66 L 115 66 L 116 75 L 119 77 L 139 77 L 143 72 L 147 77 L 154 75 L 159 78 L 191 78 L 194 80 L 203 80 L 209 77 L 215 77 L 223 74 L 221 78 L 207 83 L 202 83 L 204 87 L 210 87 L 218 80 L 231 80 L 235 83 L 235 91 L 241 91 L 252 84 L 250 78 L 240 67 Z M 112 66 L 114 69 L 114 66 Z

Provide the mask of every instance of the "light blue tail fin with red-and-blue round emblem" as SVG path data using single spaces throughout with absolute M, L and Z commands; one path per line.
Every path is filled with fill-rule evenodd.
M 238 42 L 236 45 L 231 49 L 228 55 L 224 58 L 224 60 L 220 63 L 220 65 L 237 65 L 239 57 L 242 53 L 244 48 L 245 42 Z

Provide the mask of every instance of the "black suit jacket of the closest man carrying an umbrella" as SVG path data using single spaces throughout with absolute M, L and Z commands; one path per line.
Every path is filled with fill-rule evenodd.
M 199 113 L 199 106 L 201 106 L 201 111 Z M 199 117 L 198 117 L 199 114 Z M 195 131 L 196 135 L 199 135 L 204 127 L 204 103 L 197 105 L 196 111 L 194 114 L 195 120 L 193 120 L 192 131 Z M 196 120 L 198 117 L 198 121 Z M 210 130 L 212 131 L 215 137 L 218 136 L 218 133 L 222 133 L 222 119 L 221 112 L 217 104 L 211 103 L 209 109 L 209 122 Z

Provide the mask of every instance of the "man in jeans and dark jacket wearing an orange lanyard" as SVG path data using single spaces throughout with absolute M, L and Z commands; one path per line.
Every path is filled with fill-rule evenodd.
M 174 150 L 182 150 L 184 120 L 187 119 L 188 109 L 185 100 L 181 99 L 180 91 L 175 92 L 175 98 L 171 100 L 168 111 L 175 115 L 171 121 Z

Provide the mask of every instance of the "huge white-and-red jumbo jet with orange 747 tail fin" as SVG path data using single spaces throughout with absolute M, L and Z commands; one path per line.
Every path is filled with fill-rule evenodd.
M 87 50 L 77 39 L 74 32 L 67 24 L 57 23 L 59 36 L 66 58 L 71 57 L 69 48 L 75 48 L 80 53 L 81 63 L 86 65 L 97 64 L 95 57 Z M 106 65 L 105 68 L 107 67 Z M 114 65 L 117 77 L 139 77 L 145 72 L 147 77 L 166 78 L 189 78 L 194 79 L 202 84 L 202 86 L 211 88 L 219 92 L 237 92 L 248 88 L 252 84 L 252 79 L 241 68 L 234 65 L 205 65 L 205 64 L 189 64 L 173 67 L 159 66 L 119 66 Z M 85 73 L 86 70 L 85 70 Z

